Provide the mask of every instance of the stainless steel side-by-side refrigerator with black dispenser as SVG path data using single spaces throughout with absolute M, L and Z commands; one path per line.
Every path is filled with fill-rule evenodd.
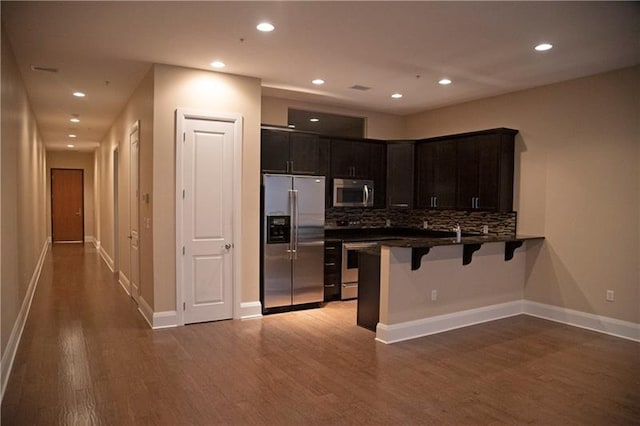
M 262 307 L 324 299 L 324 176 L 262 175 Z

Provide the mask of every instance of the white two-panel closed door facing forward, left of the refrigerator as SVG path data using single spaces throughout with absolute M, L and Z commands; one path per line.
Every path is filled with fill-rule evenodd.
M 187 118 L 183 136 L 184 323 L 233 315 L 234 129 Z

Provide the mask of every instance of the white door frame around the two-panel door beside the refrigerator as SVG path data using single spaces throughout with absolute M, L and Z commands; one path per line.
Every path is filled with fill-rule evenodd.
M 182 190 L 184 189 L 183 174 L 183 135 L 186 120 L 211 120 L 223 121 L 234 125 L 233 135 L 233 318 L 240 318 L 240 283 L 242 283 L 242 270 L 240 259 L 242 258 L 242 115 L 234 113 L 218 113 L 211 111 L 194 110 L 190 108 L 178 108 L 176 110 L 176 316 L 178 325 L 184 325 L 184 282 L 183 267 L 184 256 L 182 246 L 183 203 Z

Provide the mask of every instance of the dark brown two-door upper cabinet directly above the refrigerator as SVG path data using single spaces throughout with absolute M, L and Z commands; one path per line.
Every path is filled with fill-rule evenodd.
M 260 163 L 264 173 L 322 175 L 320 137 L 309 133 L 262 129 Z M 326 161 L 326 155 L 324 156 Z

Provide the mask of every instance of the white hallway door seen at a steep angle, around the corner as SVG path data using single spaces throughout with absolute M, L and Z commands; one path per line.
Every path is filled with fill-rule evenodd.
M 131 147 L 129 168 L 129 260 L 131 272 L 131 297 L 139 303 L 140 299 L 140 236 L 139 236 L 139 201 L 140 201 L 140 130 L 138 122 L 133 125 L 129 133 Z

